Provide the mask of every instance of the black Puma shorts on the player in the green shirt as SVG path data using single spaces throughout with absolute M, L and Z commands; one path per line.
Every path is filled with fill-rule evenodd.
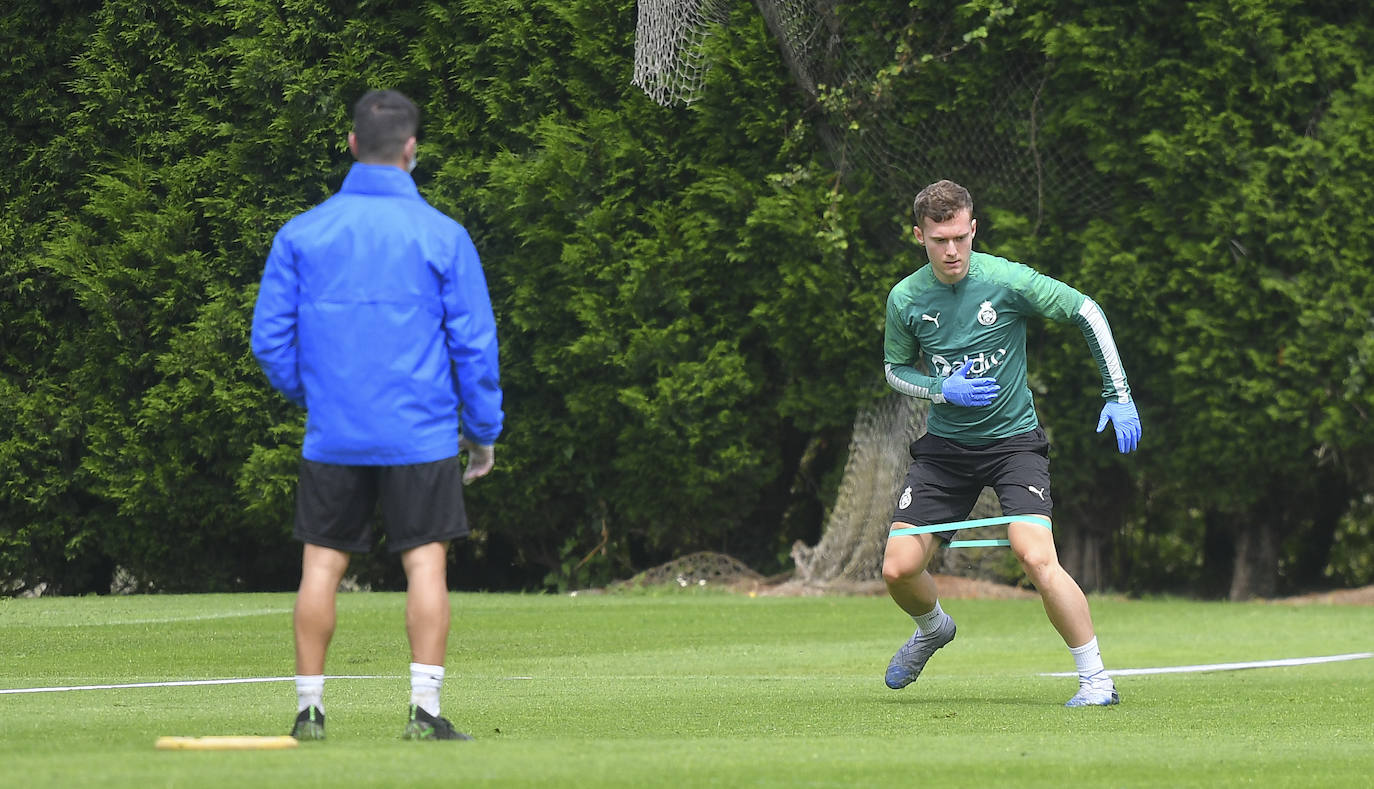
M 1003 515 L 1050 517 L 1050 441 L 1043 427 L 981 447 L 930 433 L 916 438 L 892 521 L 912 526 L 965 521 L 987 487 L 998 493 Z M 936 536 L 949 542 L 955 533 Z

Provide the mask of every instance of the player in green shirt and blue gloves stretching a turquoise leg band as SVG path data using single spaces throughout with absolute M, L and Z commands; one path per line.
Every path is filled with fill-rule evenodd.
M 1077 665 L 1079 691 L 1066 705 L 1117 704 L 1088 601 L 1055 554 L 1050 447 L 1026 385 L 1026 320 L 1073 323 L 1102 374 L 1098 432 L 1110 422 L 1117 448 L 1134 451 L 1140 416 L 1112 329 L 1096 302 L 1073 287 L 973 252 L 978 223 L 973 198 L 959 184 L 941 180 L 921 190 L 914 213 L 914 232 L 929 263 L 888 296 L 883 362 L 893 389 L 932 405 L 926 433 L 911 445 L 882 564 L 892 599 L 916 631 L 893 656 L 885 680 L 892 689 L 905 687 L 937 649 L 954 641 L 954 619 L 941 609 L 926 566 L 973 511 L 982 488 L 991 487 L 1010 521 L 1011 550 Z M 945 524 L 952 528 L 941 529 Z

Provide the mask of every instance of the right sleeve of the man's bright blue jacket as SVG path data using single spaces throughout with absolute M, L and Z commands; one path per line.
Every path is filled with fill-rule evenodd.
M 467 231 L 459 234 L 458 252 L 440 282 L 440 291 L 463 436 L 474 444 L 493 444 L 506 419 L 496 316 L 477 247 Z

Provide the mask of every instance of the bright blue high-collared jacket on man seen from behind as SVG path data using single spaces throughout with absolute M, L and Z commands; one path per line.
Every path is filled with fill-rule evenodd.
M 309 460 L 427 463 L 502 432 L 496 320 L 463 225 L 394 166 L 356 164 L 276 234 L 253 355 L 306 408 Z

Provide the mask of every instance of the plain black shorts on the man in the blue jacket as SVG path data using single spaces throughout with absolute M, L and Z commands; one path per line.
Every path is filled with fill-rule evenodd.
M 313 546 L 367 553 L 378 502 L 392 553 L 469 533 L 463 465 L 455 455 L 408 466 L 335 466 L 302 458 L 294 536 Z

